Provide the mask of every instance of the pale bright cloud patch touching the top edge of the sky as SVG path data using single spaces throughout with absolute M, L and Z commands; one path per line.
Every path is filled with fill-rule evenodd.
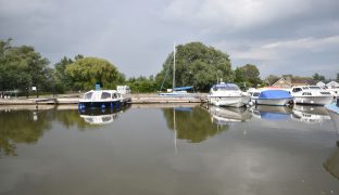
M 298 16 L 310 5 L 305 0 L 174 0 L 163 17 L 190 25 L 248 28 Z

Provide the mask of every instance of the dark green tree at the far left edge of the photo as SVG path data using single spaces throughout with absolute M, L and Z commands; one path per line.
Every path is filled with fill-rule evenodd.
M 0 40 L 0 90 L 18 89 L 26 91 L 36 86 L 38 90 L 47 87 L 52 69 L 49 61 L 33 47 L 12 47 L 11 39 Z

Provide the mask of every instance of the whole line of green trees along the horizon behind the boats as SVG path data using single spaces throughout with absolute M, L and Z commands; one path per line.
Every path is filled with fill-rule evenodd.
M 77 54 L 74 58 L 64 56 L 50 67 L 50 61 L 29 46 L 12 46 L 12 39 L 0 39 L 0 92 L 17 90 L 22 95 L 32 91 L 65 93 L 67 91 L 87 91 L 100 83 L 102 89 L 116 89 L 116 86 L 129 86 L 133 92 L 156 92 L 172 89 L 173 51 L 162 64 L 162 69 L 149 77 L 139 76 L 126 79 L 116 65 L 100 57 Z M 281 78 L 269 75 L 261 79 L 254 64 L 231 68 L 229 55 L 202 42 L 189 42 L 176 46 L 176 87 L 193 86 L 196 91 L 208 92 L 218 80 L 235 82 L 240 88 L 267 86 L 267 78 Z M 311 77 L 285 75 L 296 78 L 309 78 L 314 81 L 339 81 L 326 79 L 315 73 Z M 163 87 L 161 89 L 161 87 Z

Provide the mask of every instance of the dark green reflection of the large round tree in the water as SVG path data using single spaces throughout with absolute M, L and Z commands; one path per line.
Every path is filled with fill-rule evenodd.
M 214 125 L 210 114 L 198 106 L 191 110 L 164 108 L 167 127 L 172 130 L 174 130 L 174 112 L 177 139 L 199 143 L 227 129 L 227 126 Z

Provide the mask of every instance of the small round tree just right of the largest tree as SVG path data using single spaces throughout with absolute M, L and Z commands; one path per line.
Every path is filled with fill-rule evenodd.
M 260 84 L 262 81 L 260 79 L 260 73 L 255 65 L 247 64 L 241 67 L 237 67 L 235 70 L 235 82 L 237 82 L 239 86 L 243 86 L 246 83 L 246 87 L 254 87 L 256 88 L 258 84 Z

